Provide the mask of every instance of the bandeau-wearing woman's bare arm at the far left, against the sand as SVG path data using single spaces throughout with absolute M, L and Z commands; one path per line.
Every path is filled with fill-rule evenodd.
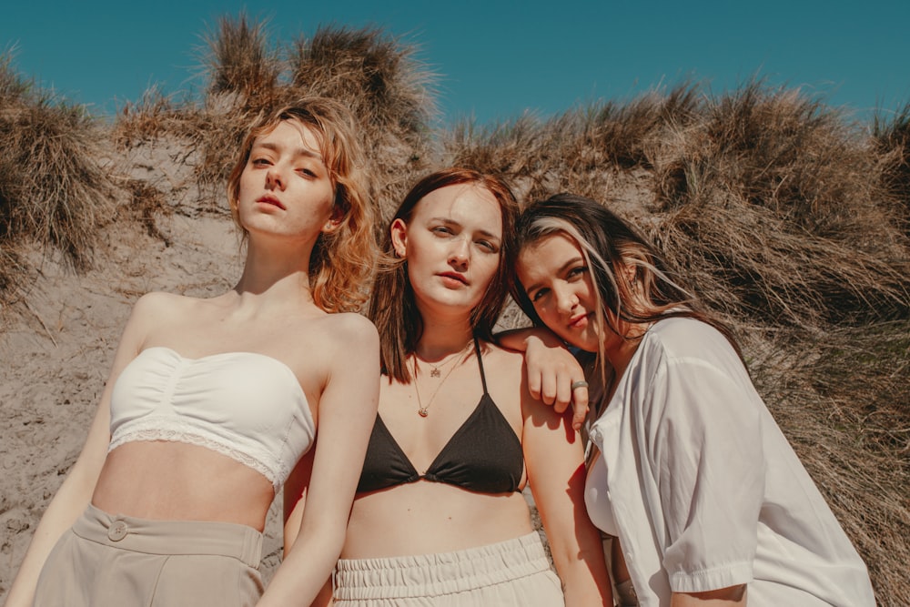
M 154 296 L 152 296 L 154 297 Z M 95 485 L 107 457 L 107 446 L 110 444 L 110 398 L 114 382 L 120 371 L 130 360 L 136 358 L 145 334 L 144 318 L 148 315 L 150 296 L 140 298 L 126 322 L 126 328 L 120 338 L 114 355 L 114 364 L 108 376 L 101 400 L 88 430 L 86 442 L 79 453 L 72 470 L 56 491 L 41 521 L 35 529 L 35 535 L 25 551 L 25 558 L 15 576 L 13 585 L 6 597 L 7 607 L 31 605 L 35 596 L 35 585 L 38 575 L 47 560 L 47 555 L 56 545 L 57 540 L 69 529 L 76 519 L 86 510 L 92 499 Z

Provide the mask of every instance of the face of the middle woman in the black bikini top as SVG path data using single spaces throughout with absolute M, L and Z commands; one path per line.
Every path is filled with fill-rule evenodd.
M 459 184 L 430 192 L 409 223 L 390 227 L 421 312 L 470 313 L 496 276 L 502 247 L 500 203 L 489 190 Z

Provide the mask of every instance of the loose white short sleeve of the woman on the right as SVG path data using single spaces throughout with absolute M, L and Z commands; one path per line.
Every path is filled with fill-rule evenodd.
M 667 358 L 649 391 L 647 449 L 672 591 L 751 582 L 765 474 L 748 376 L 731 377 L 707 359 Z

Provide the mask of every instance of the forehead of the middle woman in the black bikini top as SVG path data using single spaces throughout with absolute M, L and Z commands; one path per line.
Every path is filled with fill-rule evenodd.
M 445 218 L 502 236 L 500 201 L 485 187 L 457 184 L 433 190 L 414 207 L 414 219 Z

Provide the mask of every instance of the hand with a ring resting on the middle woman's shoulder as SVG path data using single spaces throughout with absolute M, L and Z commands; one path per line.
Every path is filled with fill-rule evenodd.
M 588 415 L 587 385 L 572 389 L 572 383 L 584 380 L 584 369 L 561 339 L 549 329 L 512 329 L 496 335 L 503 347 L 524 352 L 528 369 L 528 391 L 537 400 L 553 405 L 557 413 L 565 411 L 571 401 L 572 428 L 581 429 Z

